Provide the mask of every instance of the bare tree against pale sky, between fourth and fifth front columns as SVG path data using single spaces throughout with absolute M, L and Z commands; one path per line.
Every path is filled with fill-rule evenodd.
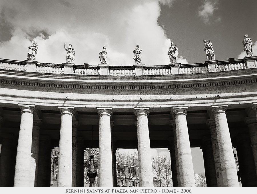
M 157 177 L 159 187 L 172 186 L 171 163 L 165 156 L 152 158 L 154 176 Z

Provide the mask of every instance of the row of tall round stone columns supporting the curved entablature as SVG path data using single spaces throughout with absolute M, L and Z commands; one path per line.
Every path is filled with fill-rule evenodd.
M 49 177 L 49 137 L 41 136 L 39 128 L 41 120 L 33 119 L 36 111 L 35 105 L 19 104 L 21 109 L 21 123 L 17 145 L 15 162 L 14 186 L 45 186 Z M 61 130 L 59 142 L 58 162 L 58 187 L 82 186 L 84 175 L 82 139 L 77 137 L 78 121 L 74 120 L 74 107 L 58 107 L 61 112 Z M 214 119 L 208 119 L 210 137 L 203 141 L 203 155 L 206 159 L 206 181 L 211 186 L 237 187 L 238 179 L 236 165 L 228 122 L 226 119 L 227 105 L 211 106 Z M 257 103 L 252 104 L 257 116 Z M 170 157 L 172 166 L 172 178 L 174 186 L 194 187 L 194 169 L 190 150 L 190 141 L 186 113 L 188 107 L 172 107 L 171 114 L 174 120 L 170 121 L 174 137 L 170 138 Z M 153 187 L 153 172 L 150 152 L 150 138 L 148 130 L 149 107 L 134 108 L 137 127 L 139 186 Z M 99 115 L 99 187 L 112 187 L 116 183 L 116 167 L 114 165 L 115 148 L 112 137 L 111 121 L 112 108 L 97 108 Z M 2 118 L 0 118 L 0 121 Z M 253 152 L 253 161 L 257 174 L 257 130 L 256 117 L 246 118 L 250 132 L 250 141 Z M 8 177 L 11 162 L 10 144 L 11 135 L 2 137 L 3 146 L 0 157 L 0 182 L 1 186 L 7 186 L 4 182 Z M 40 141 L 39 141 L 40 140 Z M 44 149 L 42 149 L 42 147 Z M 46 149 L 47 147 L 47 149 Z M 41 150 L 42 149 L 42 150 Z M 9 150 L 9 151 L 8 151 Z M 40 154 L 39 154 L 40 153 Z M 49 159 L 46 159 L 49 158 Z M 39 161 L 44 161 L 40 163 Z M 13 161 L 13 160 L 12 160 Z M 49 164 L 48 164 L 49 163 Z M 115 169 L 115 170 L 113 170 Z M 83 173 L 83 174 L 82 174 Z M 208 174 L 208 175 L 207 175 Z M 49 180 L 48 180 L 49 181 Z

